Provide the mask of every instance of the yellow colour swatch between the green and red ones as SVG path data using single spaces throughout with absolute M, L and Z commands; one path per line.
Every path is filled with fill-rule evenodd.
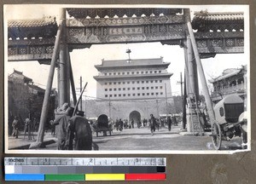
M 86 174 L 85 181 L 125 181 L 125 174 Z

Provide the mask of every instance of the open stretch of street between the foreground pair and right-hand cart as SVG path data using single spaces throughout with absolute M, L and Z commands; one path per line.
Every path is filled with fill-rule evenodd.
M 180 127 L 156 130 L 151 135 L 150 129 L 114 130 L 111 136 L 94 137 L 100 150 L 205 150 L 209 136 L 179 135 Z

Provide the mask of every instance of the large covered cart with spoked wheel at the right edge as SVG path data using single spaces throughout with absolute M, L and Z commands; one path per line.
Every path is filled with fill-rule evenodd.
M 241 137 L 241 146 L 247 144 L 247 112 L 244 112 L 244 101 L 238 95 L 227 95 L 213 108 L 215 121 L 212 123 L 212 143 L 216 150 L 221 148 L 223 140 L 234 136 Z

